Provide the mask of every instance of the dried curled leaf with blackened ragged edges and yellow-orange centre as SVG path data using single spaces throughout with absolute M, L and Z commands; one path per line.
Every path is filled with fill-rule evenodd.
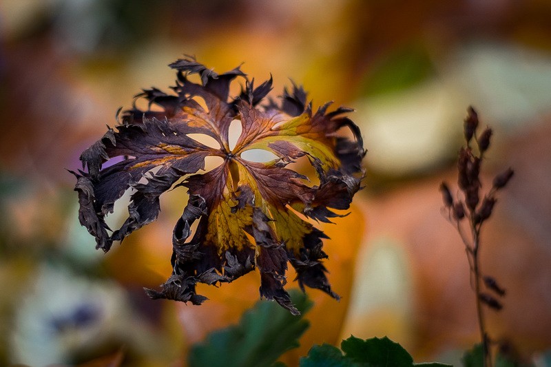
M 271 79 L 255 88 L 239 67 L 216 74 L 191 58 L 170 66 L 178 71 L 175 94 L 157 89 L 138 94 L 156 109 L 126 111 L 116 131 L 109 129 L 83 152 L 83 171 L 73 172 L 79 218 L 96 247 L 109 251 L 113 241 L 156 220 L 159 196 L 185 178 L 176 185 L 187 187 L 189 200 L 174 228 L 174 271 L 160 291 L 146 290 L 150 297 L 200 304 L 205 297 L 196 294 L 198 282 L 231 282 L 258 268 L 260 295 L 296 314 L 283 288 L 291 262 L 303 290 L 309 286 L 338 298 L 320 262 L 327 257 L 322 251 L 326 236 L 300 214 L 330 222 L 340 216 L 331 209 L 348 209 L 360 189 L 365 151 L 358 127 L 344 116 L 351 109 L 326 112 L 327 103 L 313 113 L 296 85 L 290 93 L 284 90 L 280 105 L 261 104 Z M 191 74 L 198 74 L 200 83 L 190 81 Z M 229 98 L 229 85 L 238 77 L 245 88 Z M 232 120 L 240 121 L 242 132 L 230 149 Z M 348 136 L 339 134 L 342 128 Z M 219 146 L 204 145 L 190 134 L 210 136 Z M 270 151 L 278 159 L 242 158 L 250 149 Z M 223 163 L 204 171 L 207 156 Z M 102 168 L 112 158 L 120 161 Z M 309 185 L 309 178 L 286 167 L 299 158 L 307 158 L 319 185 Z M 129 216 L 109 234 L 105 216 L 129 188 Z

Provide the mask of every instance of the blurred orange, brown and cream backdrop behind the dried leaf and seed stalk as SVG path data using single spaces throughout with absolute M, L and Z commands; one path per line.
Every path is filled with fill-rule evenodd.
M 483 232 L 484 273 L 508 291 L 487 312 L 508 353 L 551 348 L 551 2 L 548 0 L 125 1 L 0 3 L 0 364 L 122 361 L 178 366 L 189 346 L 258 300 L 258 275 L 204 305 L 152 301 L 171 268 L 184 191 L 154 224 L 104 254 L 79 225 L 81 151 L 141 88 L 167 90 L 184 54 L 257 81 L 304 85 L 315 106 L 356 109 L 368 154 L 351 216 L 325 226 L 329 280 L 302 346 L 388 335 L 416 361 L 457 363 L 477 342 L 459 235 L 442 213 L 472 105 L 495 134 L 483 184 L 507 167 Z M 488 183 L 485 188 L 490 187 Z M 123 206 L 124 207 L 124 206 Z M 125 215 L 124 208 L 116 222 Z M 289 280 L 292 280 L 289 275 Z M 293 284 L 288 285 L 292 287 Z M 102 359 L 103 358 L 103 359 Z

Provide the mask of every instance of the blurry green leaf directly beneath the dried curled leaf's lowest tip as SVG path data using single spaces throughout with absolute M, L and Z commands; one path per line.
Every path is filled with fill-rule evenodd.
M 304 293 L 291 291 L 291 295 L 302 313 L 311 308 Z M 298 346 L 308 325 L 302 316 L 291 315 L 274 302 L 259 301 L 238 325 L 211 333 L 191 348 L 188 363 L 191 367 L 272 366 L 282 353 Z

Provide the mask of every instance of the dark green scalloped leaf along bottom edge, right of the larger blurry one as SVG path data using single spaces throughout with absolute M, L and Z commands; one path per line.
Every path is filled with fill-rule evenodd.
M 449 367 L 448 364 L 440 363 L 414 364 L 410 354 L 402 346 L 388 339 L 388 337 L 374 337 L 363 340 L 351 336 L 349 339 L 342 341 L 341 348 L 344 351 L 344 355 L 342 355 L 338 348 L 329 344 L 315 346 L 310 350 L 307 357 L 300 359 L 300 367 Z

